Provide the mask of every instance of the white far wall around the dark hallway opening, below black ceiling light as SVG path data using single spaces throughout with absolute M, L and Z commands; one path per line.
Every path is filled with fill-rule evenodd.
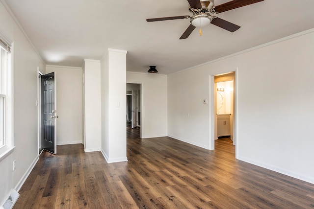
M 167 136 L 167 76 L 127 72 L 127 83 L 142 84 L 142 138 Z

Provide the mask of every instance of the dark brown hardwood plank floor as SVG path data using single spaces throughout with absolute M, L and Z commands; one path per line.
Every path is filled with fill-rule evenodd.
M 314 209 L 314 185 L 235 159 L 230 139 L 202 149 L 127 129 L 128 162 L 106 163 L 83 145 L 44 151 L 15 209 Z

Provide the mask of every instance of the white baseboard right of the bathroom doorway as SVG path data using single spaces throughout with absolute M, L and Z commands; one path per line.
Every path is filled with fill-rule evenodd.
M 266 168 L 266 169 L 269 169 L 269 170 L 272 170 L 272 171 L 275 171 L 275 172 L 278 172 L 278 173 L 281 173 L 281 174 L 284 174 L 284 175 L 287 175 L 287 176 L 290 176 L 293 178 L 296 178 L 296 179 L 300 179 L 302 181 L 309 182 L 311 184 L 314 184 L 314 178 L 310 177 L 310 176 L 302 176 L 298 173 L 293 173 L 293 172 L 288 171 L 286 169 L 282 169 L 282 168 L 279 168 L 279 167 L 276 167 L 273 165 L 269 165 L 266 163 L 257 162 L 257 161 L 254 161 L 252 159 L 248 159 L 246 157 L 240 156 L 240 155 L 236 156 L 236 159 L 238 159 L 240 161 L 244 161 L 246 163 L 251 163 L 251 164 L 254 164 L 254 165 L 257 165 L 257 166 L 260 166 L 260 167 L 263 167 L 263 168 Z

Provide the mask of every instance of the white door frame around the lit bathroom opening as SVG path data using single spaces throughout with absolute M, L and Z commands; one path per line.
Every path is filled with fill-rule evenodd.
M 214 76 L 226 74 L 230 72 L 235 72 L 235 82 L 234 82 L 234 118 L 233 118 L 233 136 L 234 136 L 234 144 L 235 144 L 235 157 L 237 157 L 238 153 L 238 73 L 239 69 L 235 70 L 216 70 L 209 74 L 209 150 L 215 149 L 215 82 Z

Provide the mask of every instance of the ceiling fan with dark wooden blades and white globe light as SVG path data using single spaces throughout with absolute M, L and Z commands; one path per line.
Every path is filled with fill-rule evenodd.
M 212 16 L 211 14 L 218 14 L 249 4 L 257 3 L 263 0 L 232 0 L 218 6 L 214 6 L 214 0 L 187 0 L 189 3 L 189 11 L 193 16 L 184 15 L 184 16 L 174 16 L 174 17 L 164 17 L 164 18 L 150 18 L 146 19 L 147 22 L 156 22 L 156 21 L 166 21 L 166 20 L 178 20 L 178 19 L 188 19 L 190 18 L 190 25 L 184 31 L 180 39 L 186 39 L 195 27 L 204 27 L 209 23 L 214 24 L 218 27 L 221 27 L 230 32 L 235 32 L 240 26 L 220 19 L 218 17 Z M 202 31 L 200 29 L 200 34 Z

